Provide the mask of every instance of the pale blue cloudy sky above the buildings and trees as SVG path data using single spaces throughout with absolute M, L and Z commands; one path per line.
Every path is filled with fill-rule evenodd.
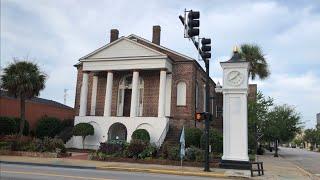
M 76 68 L 80 57 L 109 42 L 110 29 L 120 36 L 136 34 L 151 40 L 152 26 L 161 26 L 161 45 L 197 59 L 183 38 L 178 16 L 200 11 L 200 36 L 212 39 L 210 76 L 221 82 L 219 62 L 235 45 L 259 45 L 270 66 L 258 89 L 301 113 L 314 128 L 320 112 L 320 1 L 81 1 L 1 0 L 1 67 L 14 58 L 36 62 L 48 75 L 40 97 L 74 106 Z M 202 63 L 202 62 L 200 62 Z

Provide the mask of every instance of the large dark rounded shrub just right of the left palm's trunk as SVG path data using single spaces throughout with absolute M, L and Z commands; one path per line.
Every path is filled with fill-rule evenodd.
M 61 131 L 61 121 L 54 117 L 44 116 L 40 118 L 36 127 L 36 136 L 38 138 L 43 137 L 55 137 Z

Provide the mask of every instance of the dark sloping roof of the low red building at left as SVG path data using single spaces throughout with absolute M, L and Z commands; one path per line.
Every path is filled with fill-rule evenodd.
M 10 98 L 10 99 L 17 99 L 15 96 L 9 94 L 5 90 L 1 90 L 0 91 L 0 97 Z M 43 99 L 43 98 L 39 98 L 39 97 L 34 97 L 34 98 L 31 98 L 31 99 L 28 99 L 27 101 L 31 101 L 31 102 L 35 102 L 35 103 L 41 103 L 41 104 L 47 104 L 47 105 L 56 106 L 56 107 L 64 108 L 64 109 L 73 109 L 72 107 L 64 105 L 62 103 L 59 103 L 57 101 L 53 101 L 53 100 L 49 100 L 49 99 Z

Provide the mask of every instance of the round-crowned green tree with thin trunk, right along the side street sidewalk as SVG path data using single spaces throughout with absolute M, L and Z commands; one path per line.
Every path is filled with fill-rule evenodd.
M 301 130 L 300 114 L 289 105 L 275 106 L 263 123 L 262 132 L 267 141 L 275 142 L 275 157 L 278 157 L 278 143 L 293 140 Z

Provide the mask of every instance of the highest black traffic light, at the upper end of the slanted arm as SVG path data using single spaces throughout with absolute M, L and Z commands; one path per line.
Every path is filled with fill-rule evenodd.
M 188 37 L 199 36 L 200 12 L 190 11 L 187 17 L 187 35 Z

